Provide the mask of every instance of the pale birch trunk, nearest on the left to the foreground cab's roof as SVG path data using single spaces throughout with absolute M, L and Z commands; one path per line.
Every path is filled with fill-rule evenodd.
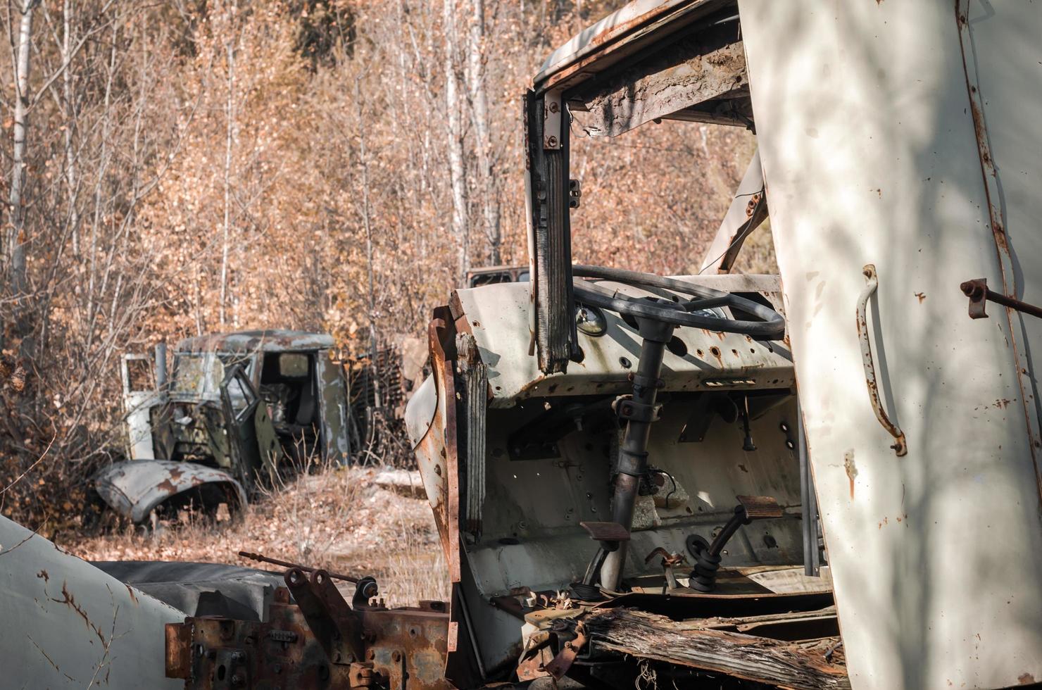
M 492 135 L 489 122 L 489 97 L 485 81 L 485 0 L 470 0 L 470 41 L 467 45 L 467 78 L 470 91 L 471 120 L 477 140 L 477 175 L 481 190 L 481 216 L 489 242 L 489 264 L 502 263 L 499 226 L 499 190 L 496 184 Z

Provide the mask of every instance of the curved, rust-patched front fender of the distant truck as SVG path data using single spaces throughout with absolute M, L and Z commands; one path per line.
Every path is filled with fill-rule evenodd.
M 115 463 L 94 477 L 94 486 L 108 506 L 135 523 L 144 522 L 156 506 L 183 491 L 215 485 L 231 508 L 246 506 L 246 491 L 230 474 L 198 463 L 135 460 Z

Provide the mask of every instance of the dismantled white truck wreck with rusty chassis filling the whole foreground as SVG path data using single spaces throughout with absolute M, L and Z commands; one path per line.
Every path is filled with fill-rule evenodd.
M 290 567 L 258 619 L 197 616 L 0 521 L 7 680 L 1038 687 L 1040 33 L 638 0 L 576 35 L 525 98 L 532 280 L 436 312 L 408 405 L 450 600 Z M 573 126 L 655 120 L 755 132 L 702 272 L 573 266 Z M 729 274 L 767 217 L 780 276 Z

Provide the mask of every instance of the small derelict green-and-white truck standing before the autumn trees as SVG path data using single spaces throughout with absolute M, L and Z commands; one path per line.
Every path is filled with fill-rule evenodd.
M 295 330 L 188 338 L 169 380 L 165 347 L 154 366 L 124 355 L 130 460 L 95 476 L 99 496 L 134 523 L 190 504 L 234 512 L 280 465 L 347 462 L 356 434 L 332 346 L 328 335 Z

